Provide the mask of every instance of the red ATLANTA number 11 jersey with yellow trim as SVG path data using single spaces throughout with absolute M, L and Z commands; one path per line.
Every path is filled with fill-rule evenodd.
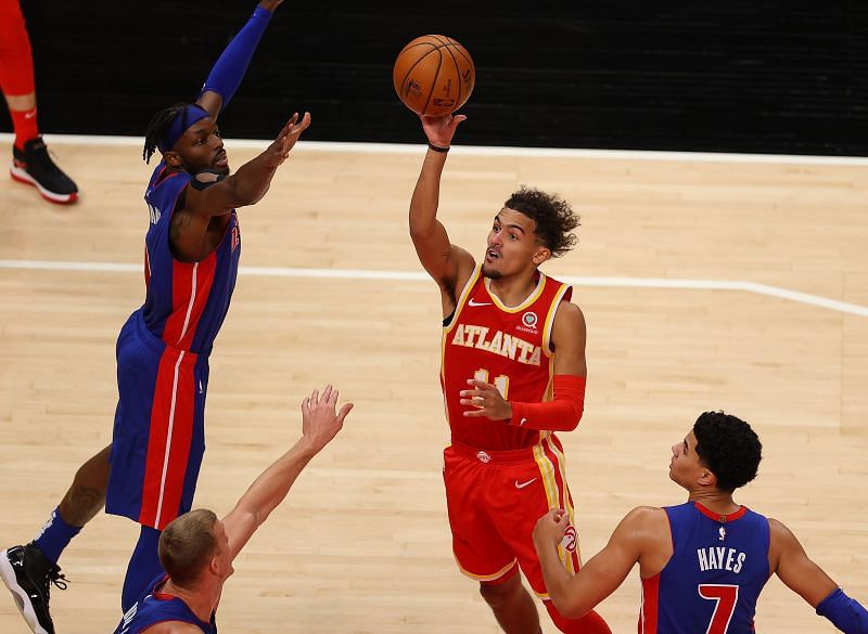
M 492 385 L 503 398 L 520 402 L 551 400 L 554 353 L 551 326 L 572 287 L 537 272 L 536 289 L 516 307 L 505 306 L 488 290 L 477 266 L 452 319 L 443 328 L 441 386 L 452 441 L 493 451 L 525 449 L 550 434 L 522 429 L 506 420 L 465 417 L 474 407 L 460 404 L 469 378 Z

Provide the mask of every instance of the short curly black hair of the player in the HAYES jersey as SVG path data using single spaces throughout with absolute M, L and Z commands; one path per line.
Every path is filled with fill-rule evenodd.
M 744 420 L 724 412 L 705 412 L 693 425 L 697 454 L 717 476 L 717 488 L 732 492 L 756 477 L 763 445 Z

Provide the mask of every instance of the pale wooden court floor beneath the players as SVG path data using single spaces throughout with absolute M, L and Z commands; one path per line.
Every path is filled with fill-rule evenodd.
M 51 206 L 0 177 L 3 546 L 33 539 L 108 442 L 115 337 L 143 298 L 140 147 L 49 141 L 84 192 L 78 205 Z M 8 139 L 2 147 L 5 161 Z M 229 154 L 238 167 L 255 150 L 230 143 Z M 295 440 L 312 388 L 332 381 L 356 410 L 240 556 L 222 632 L 497 632 L 451 557 L 437 290 L 401 275 L 421 272 L 406 216 L 422 155 L 421 144 L 303 144 L 241 210 L 245 270 L 212 357 L 196 505 L 231 508 Z M 787 523 L 868 604 L 868 163 L 723 158 L 458 148 L 441 218 L 481 254 L 520 183 L 582 214 L 577 250 L 544 270 L 575 279 L 588 322 L 586 414 L 562 436 L 585 558 L 634 506 L 684 501 L 669 447 L 699 413 L 723 409 L 764 442 L 738 499 Z M 136 535 L 101 515 L 64 553 L 59 633 L 114 629 Z M 635 631 L 638 606 L 634 572 L 599 611 L 621 634 Z M 833 631 L 777 580 L 756 623 Z M 27 632 L 8 596 L 0 632 Z

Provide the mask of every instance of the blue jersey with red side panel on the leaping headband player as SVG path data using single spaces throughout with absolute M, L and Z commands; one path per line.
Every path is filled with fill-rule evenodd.
M 144 238 L 148 292 L 140 310 L 148 329 L 167 346 L 207 355 L 235 287 L 241 232 L 232 210 L 220 244 L 204 260 L 175 259 L 169 244 L 171 215 L 190 179 L 189 173 L 170 171 L 161 161 L 148 184 L 144 195 L 151 215 Z

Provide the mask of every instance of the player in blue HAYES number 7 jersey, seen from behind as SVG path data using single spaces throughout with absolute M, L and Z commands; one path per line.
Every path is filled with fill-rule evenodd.
M 687 489 L 688 502 L 635 508 L 577 574 L 559 558 L 564 512 L 552 509 L 539 519 L 534 544 L 561 613 L 587 612 L 638 562 L 641 634 L 753 633 L 756 599 L 771 574 L 842 632 L 868 634 L 865 608 L 808 558 L 786 526 L 732 500 L 760 465 L 762 445 L 750 425 L 705 412 L 672 453 L 669 478 Z

